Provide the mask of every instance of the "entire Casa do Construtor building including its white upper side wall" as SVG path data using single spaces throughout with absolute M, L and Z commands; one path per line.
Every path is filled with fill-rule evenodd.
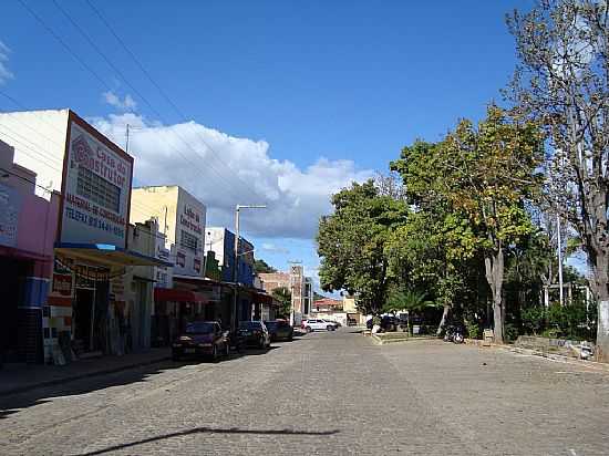
M 112 352 L 109 324 L 123 291 L 114 280 L 154 258 L 130 251 L 133 157 L 70 110 L 0 114 L 0 139 L 37 174 L 35 193 L 61 195 L 49 292 L 41 299 L 47 362 Z

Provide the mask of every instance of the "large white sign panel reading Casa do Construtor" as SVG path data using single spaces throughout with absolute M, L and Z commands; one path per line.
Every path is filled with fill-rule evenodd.
M 61 241 L 125 247 L 133 158 L 70 121 Z

